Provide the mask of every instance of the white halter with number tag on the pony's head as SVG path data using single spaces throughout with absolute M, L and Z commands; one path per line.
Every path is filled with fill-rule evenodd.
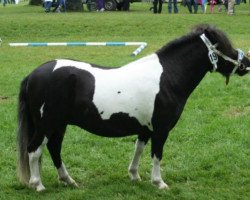
M 218 44 L 216 43 L 215 45 L 212 45 L 212 43 L 210 42 L 210 40 L 206 37 L 206 35 L 203 33 L 202 35 L 200 35 L 200 38 L 202 39 L 202 41 L 204 42 L 204 44 L 207 46 L 208 48 L 208 57 L 210 59 L 211 64 L 213 65 L 213 72 L 217 70 L 217 62 L 218 62 L 218 56 L 221 56 L 224 60 L 227 60 L 231 63 L 234 64 L 234 69 L 232 70 L 231 75 L 235 74 L 236 70 L 239 68 L 241 70 L 248 70 L 250 71 L 250 67 L 241 67 L 241 61 L 244 58 L 244 52 L 240 49 L 237 49 L 238 51 L 238 59 L 234 60 L 232 58 L 229 58 L 228 56 L 226 56 L 225 54 L 223 54 L 221 51 L 217 50 L 216 47 L 218 46 Z

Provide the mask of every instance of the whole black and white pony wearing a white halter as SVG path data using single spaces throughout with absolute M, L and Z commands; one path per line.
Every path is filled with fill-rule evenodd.
M 163 146 L 189 95 L 209 71 L 229 80 L 249 70 L 244 53 L 210 25 L 196 26 L 156 53 L 120 68 L 66 59 L 47 62 L 21 84 L 20 180 L 37 191 L 45 189 L 39 160 L 47 145 L 59 179 L 77 186 L 61 160 L 65 129 L 71 124 L 104 137 L 138 135 L 128 169 L 132 180 L 140 180 L 139 159 L 151 139 L 151 181 L 166 189 L 160 172 Z

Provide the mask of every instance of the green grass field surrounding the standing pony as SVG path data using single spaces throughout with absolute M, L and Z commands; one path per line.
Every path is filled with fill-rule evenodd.
M 250 4 L 191 15 L 153 15 L 149 3 L 130 12 L 44 13 L 26 3 L 0 5 L 0 199 L 250 199 L 250 77 L 232 77 L 228 86 L 207 74 L 191 95 L 164 148 L 162 176 L 170 190 L 150 183 L 150 144 L 140 163 L 142 181 L 132 183 L 127 168 L 136 136 L 108 139 L 68 127 L 63 160 L 78 189 L 58 183 L 48 151 L 44 152 L 43 193 L 22 186 L 16 176 L 17 97 L 21 80 L 51 59 L 72 58 L 104 66 L 121 66 L 148 55 L 182 36 L 198 23 L 223 29 L 235 47 L 250 48 Z M 148 47 L 9 47 L 9 42 L 142 41 Z

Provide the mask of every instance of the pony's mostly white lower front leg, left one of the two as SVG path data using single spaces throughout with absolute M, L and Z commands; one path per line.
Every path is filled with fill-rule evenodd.
M 129 165 L 128 173 L 132 181 L 140 181 L 141 177 L 138 173 L 139 161 L 143 150 L 149 140 L 150 136 L 139 136 L 135 143 L 134 157 Z

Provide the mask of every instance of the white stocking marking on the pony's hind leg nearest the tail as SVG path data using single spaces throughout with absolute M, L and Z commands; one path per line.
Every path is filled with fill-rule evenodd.
M 31 187 L 36 188 L 38 192 L 45 190 L 42 184 L 39 170 L 39 159 L 42 155 L 44 146 L 48 143 L 48 139 L 45 137 L 42 144 L 36 151 L 29 153 L 29 166 L 30 166 L 30 180 Z

